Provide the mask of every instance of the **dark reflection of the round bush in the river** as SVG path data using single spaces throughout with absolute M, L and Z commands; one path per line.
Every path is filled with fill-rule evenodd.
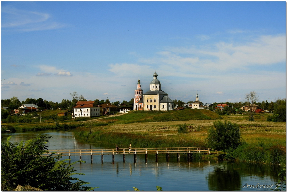
M 237 170 L 231 166 L 214 167 L 214 171 L 208 174 L 208 189 L 215 191 L 233 191 L 241 189 L 241 177 Z

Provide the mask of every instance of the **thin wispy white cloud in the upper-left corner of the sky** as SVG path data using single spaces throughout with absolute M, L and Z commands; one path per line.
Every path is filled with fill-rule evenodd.
M 39 31 L 62 28 L 65 25 L 51 20 L 48 13 L 26 11 L 13 7 L 2 7 L 2 30 L 7 31 Z

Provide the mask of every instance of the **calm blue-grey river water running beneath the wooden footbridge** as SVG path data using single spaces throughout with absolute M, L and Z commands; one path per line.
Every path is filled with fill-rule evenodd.
M 45 133 L 49 138 L 49 149 L 96 149 L 114 148 L 100 143 L 86 144 L 73 137 L 71 131 L 46 131 L 46 132 L 20 132 L 1 134 L 2 142 L 12 136 L 11 142 L 20 142 L 34 138 L 38 133 Z M 128 147 L 128 146 L 127 146 Z M 79 160 L 79 156 L 71 156 L 72 162 Z M 148 155 L 148 163 L 145 163 L 144 154 L 137 155 L 137 162 L 133 162 L 133 154 L 126 154 L 123 163 L 123 155 L 115 155 L 112 162 L 111 155 L 94 155 L 93 163 L 90 156 L 82 156 L 86 163 L 74 164 L 79 179 L 90 182 L 89 186 L 99 187 L 96 191 L 133 191 L 137 187 L 141 191 L 155 191 L 156 186 L 164 191 L 208 191 L 208 190 L 267 190 L 263 185 L 272 185 L 276 188 L 280 167 L 262 164 L 218 162 L 206 160 L 193 160 L 187 162 L 186 156 L 181 155 L 177 162 L 176 155 L 170 156 L 166 162 L 165 154 L 159 154 L 158 162 L 155 155 Z M 247 188 L 246 185 L 258 185 L 257 188 Z M 245 186 L 245 187 L 243 187 Z M 265 187 L 265 188 L 263 188 Z M 270 190 L 270 188 L 269 188 Z

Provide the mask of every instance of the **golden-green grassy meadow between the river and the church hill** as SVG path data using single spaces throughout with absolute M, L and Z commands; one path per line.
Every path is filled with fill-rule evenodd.
M 73 132 L 76 138 L 84 142 L 101 141 L 111 145 L 117 144 L 120 148 L 127 148 L 129 143 L 135 148 L 208 147 L 205 138 L 213 122 L 214 120 L 136 122 L 89 128 L 82 126 Z M 286 163 L 285 122 L 249 122 L 236 118 L 231 122 L 237 123 L 240 127 L 241 145 L 236 150 L 228 151 L 225 157 L 227 160 Z M 184 123 L 188 127 L 187 133 L 178 133 L 178 125 Z

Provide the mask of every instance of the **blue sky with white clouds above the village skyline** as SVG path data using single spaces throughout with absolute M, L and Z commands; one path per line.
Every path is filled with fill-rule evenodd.
M 1 99 L 286 98 L 286 2 L 1 2 Z

